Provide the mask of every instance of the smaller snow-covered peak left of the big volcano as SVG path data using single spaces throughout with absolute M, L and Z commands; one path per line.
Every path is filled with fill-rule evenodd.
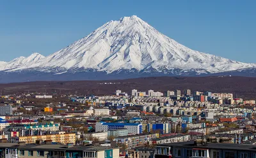
M 20 56 L 19 58 L 15 58 L 10 62 L 4 63 L 3 65 L 0 64 L 0 70 L 16 70 L 20 68 L 27 68 L 43 58 L 45 57 L 37 52 L 31 54 L 27 58 L 24 56 Z

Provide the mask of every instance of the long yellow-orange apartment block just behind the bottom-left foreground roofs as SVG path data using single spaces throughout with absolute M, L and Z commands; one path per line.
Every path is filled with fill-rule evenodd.
M 36 143 L 36 140 L 52 140 L 52 142 L 56 143 L 76 143 L 76 134 L 51 134 L 44 136 L 23 136 L 19 137 L 19 141 L 25 141 L 28 144 Z

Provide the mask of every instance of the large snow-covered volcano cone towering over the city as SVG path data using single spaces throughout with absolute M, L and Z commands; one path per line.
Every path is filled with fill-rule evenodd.
M 138 71 L 179 68 L 217 73 L 256 67 L 255 64 L 193 51 L 159 33 L 136 15 L 111 20 L 90 35 L 50 56 L 38 58 L 36 62 L 26 64 L 25 59 L 28 58 L 14 59 L 2 70 L 36 68 L 44 71 L 46 68 L 61 67 L 65 70 L 93 68 L 111 73 L 132 68 Z

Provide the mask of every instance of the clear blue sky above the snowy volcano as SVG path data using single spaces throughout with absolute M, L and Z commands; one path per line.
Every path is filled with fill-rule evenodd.
M 47 56 L 109 20 L 137 15 L 191 49 L 256 63 L 255 6 L 255 0 L 3 0 L 0 61 L 32 52 Z

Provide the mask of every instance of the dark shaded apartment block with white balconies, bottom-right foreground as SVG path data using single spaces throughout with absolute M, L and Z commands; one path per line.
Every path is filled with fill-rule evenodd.
M 256 149 L 253 145 L 230 143 L 202 143 L 186 141 L 156 146 L 155 158 L 254 158 Z

